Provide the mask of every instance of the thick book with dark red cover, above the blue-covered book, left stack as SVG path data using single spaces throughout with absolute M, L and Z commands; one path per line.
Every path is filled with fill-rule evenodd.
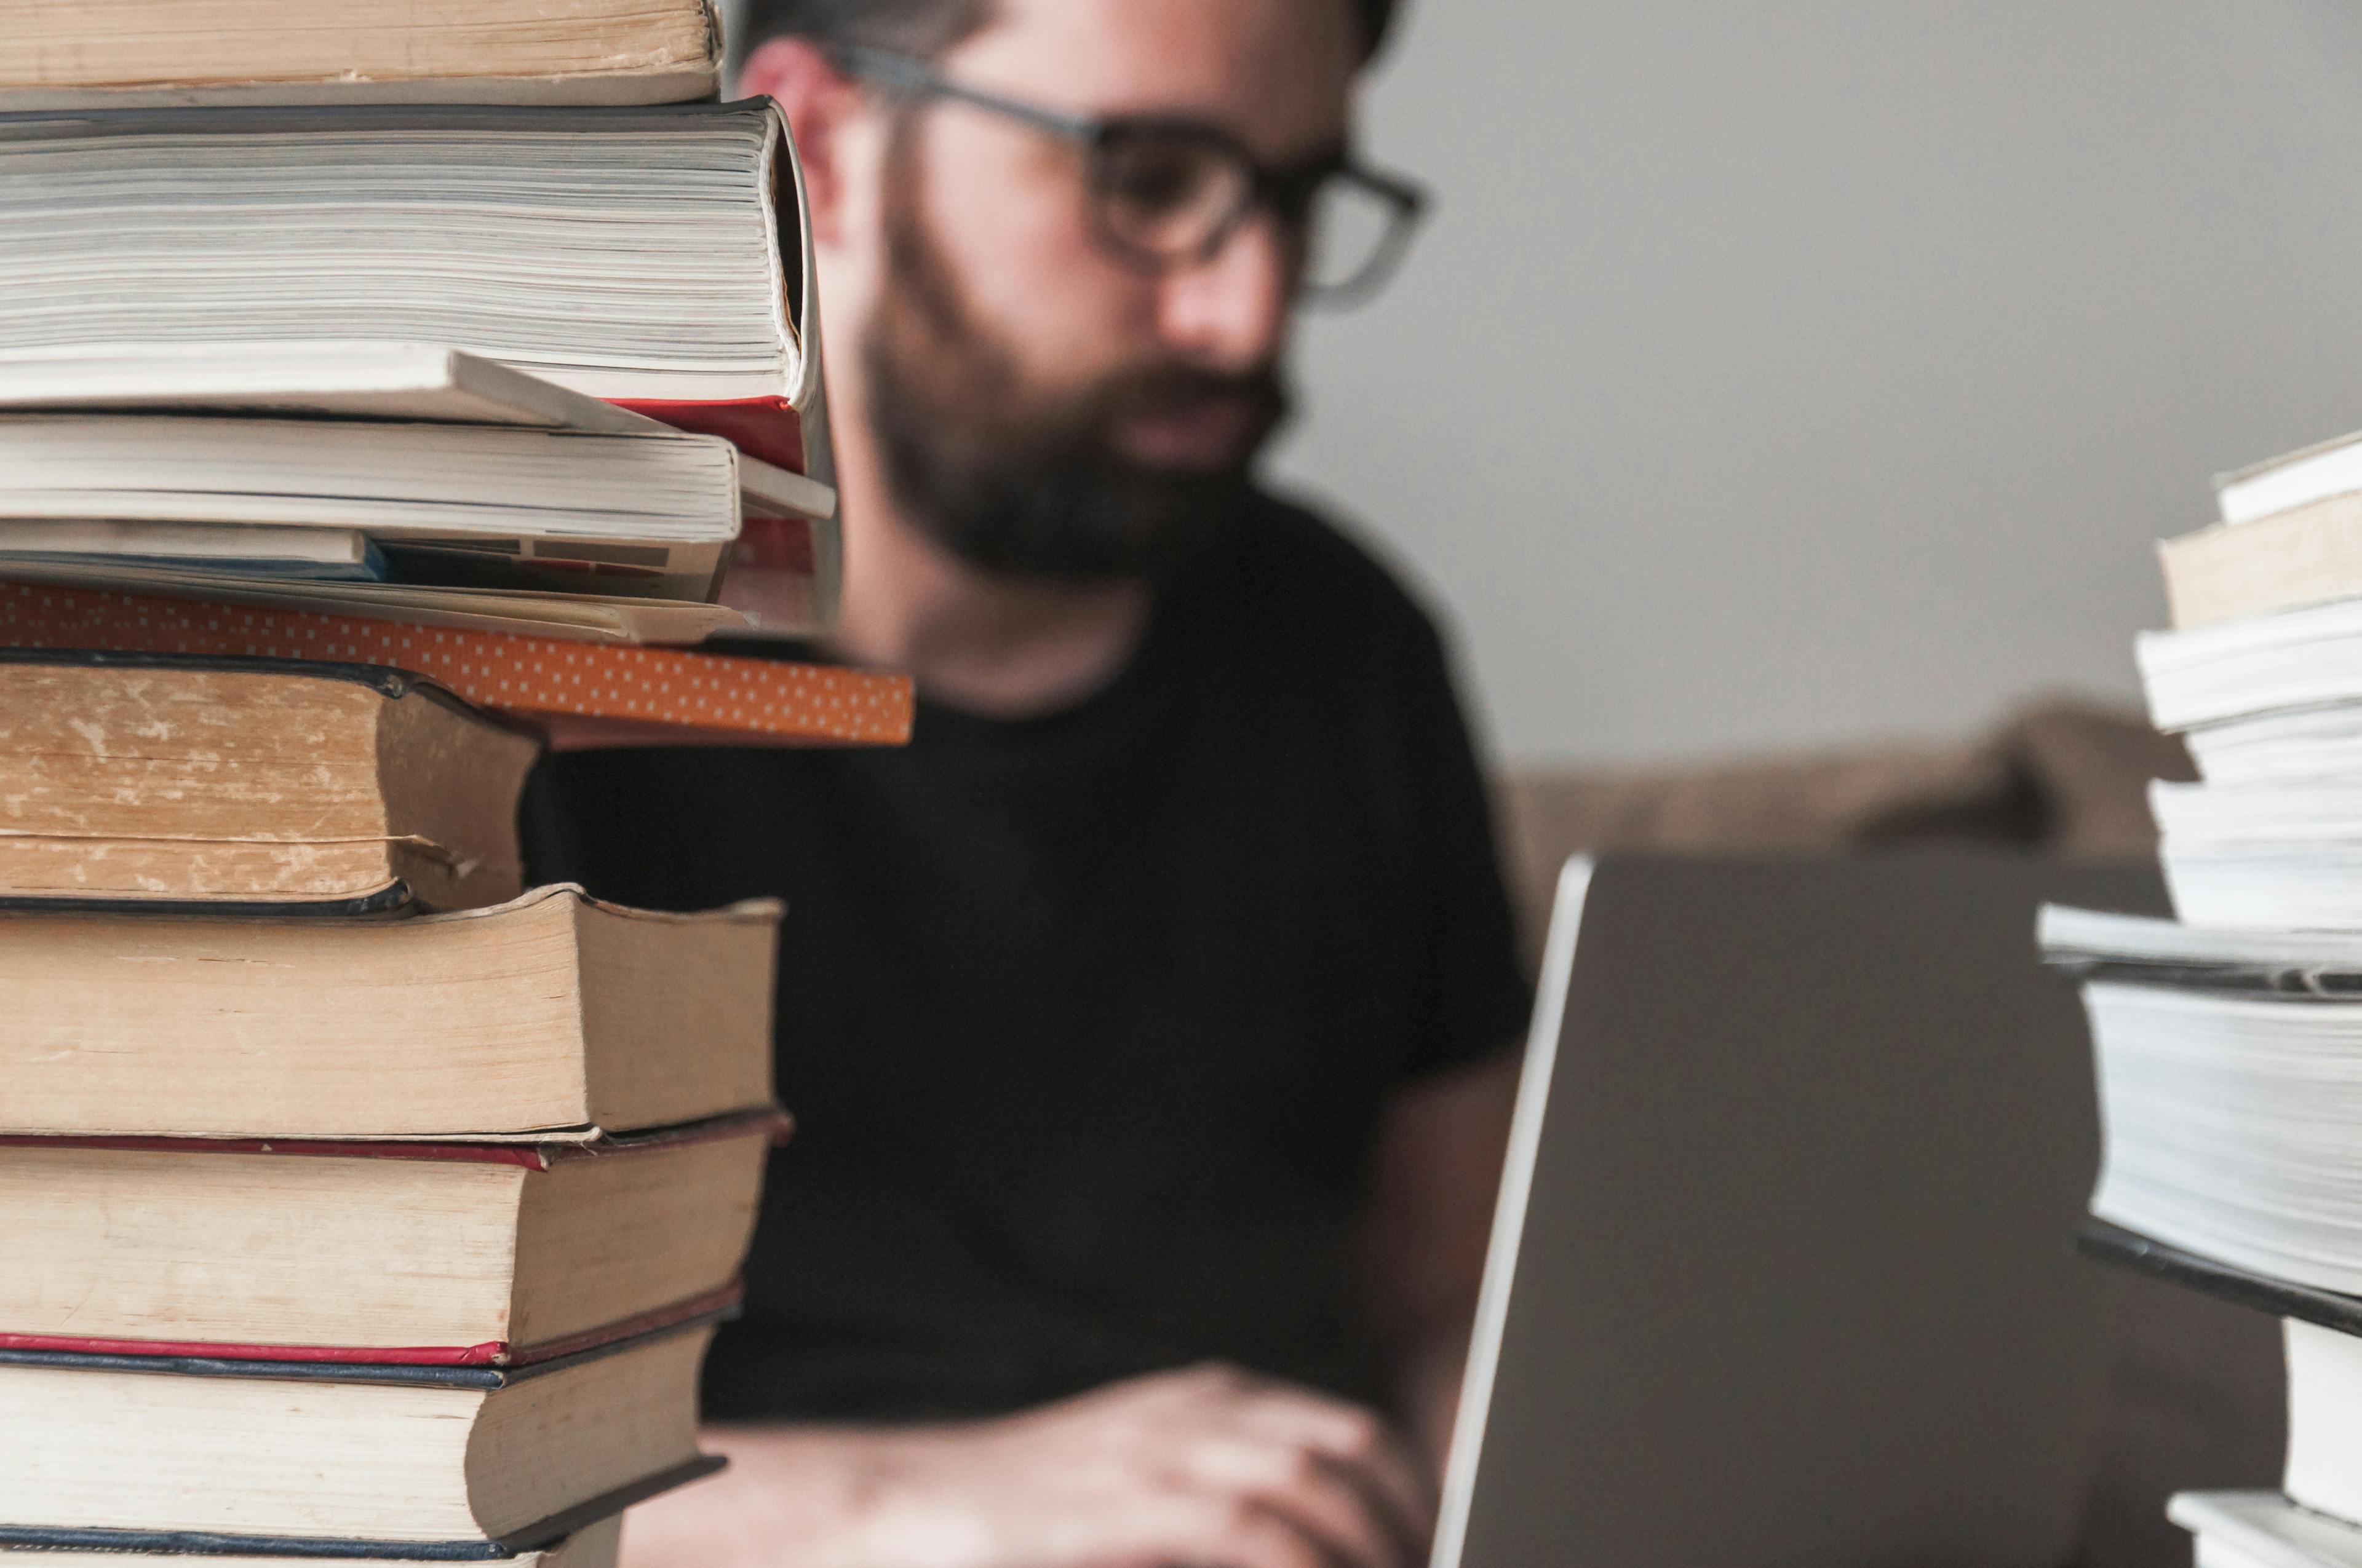
M 770 1112 L 600 1143 L 0 1138 L 0 1348 L 531 1365 L 737 1299 Z

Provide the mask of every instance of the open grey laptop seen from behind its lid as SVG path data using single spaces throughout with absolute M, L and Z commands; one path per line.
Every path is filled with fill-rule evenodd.
M 2112 1275 L 2015 857 L 1568 862 L 1431 1568 L 2069 1561 Z

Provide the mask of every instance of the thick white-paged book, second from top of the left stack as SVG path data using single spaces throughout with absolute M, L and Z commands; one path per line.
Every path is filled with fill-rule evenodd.
M 0 116 L 0 354 L 449 345 L 824 479 L 801 179 L 768 99 Z

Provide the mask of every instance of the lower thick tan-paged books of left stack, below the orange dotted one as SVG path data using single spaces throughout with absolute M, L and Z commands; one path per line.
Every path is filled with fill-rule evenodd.
M 709 1466 L 779 912 L 520 890 L 534 756 L 373 666 L 0 664 L 0 1561 L 602 1563 Z

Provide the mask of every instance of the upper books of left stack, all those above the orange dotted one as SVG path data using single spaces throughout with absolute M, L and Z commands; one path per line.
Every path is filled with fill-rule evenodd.
M 829 626 L 787 123 L 657 102 L 713 90 L 706 0 L 17 9 L 9 581 L 607 642 Z

